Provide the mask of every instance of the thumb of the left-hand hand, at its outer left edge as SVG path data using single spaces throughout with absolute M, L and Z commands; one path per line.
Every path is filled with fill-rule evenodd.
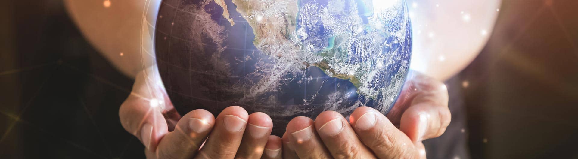
M 169 133 L 161 108 L 149 104 L 148 99 L 129 96 L 118 116 L 124 129 L 135 135 L 150 152 L 155 152 L 158 142 Z

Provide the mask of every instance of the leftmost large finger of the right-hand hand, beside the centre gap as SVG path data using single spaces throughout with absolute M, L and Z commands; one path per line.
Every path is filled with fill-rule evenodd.
M 314 127 L 312 119 L 305 116 L 293 118 L 287 124 L 290 146 L 299 158 L 332 158 Z

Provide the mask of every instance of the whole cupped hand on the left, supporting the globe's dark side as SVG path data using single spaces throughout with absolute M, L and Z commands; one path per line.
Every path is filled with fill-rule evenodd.
M 216 119 L 204 109 L 181 117 L 155 67 L 136 76 L 118 114 L 125 130 L 146 147 L 147 158 L 281 158 L 281 138 L 269 136 L 268 115 L 231 106 Z

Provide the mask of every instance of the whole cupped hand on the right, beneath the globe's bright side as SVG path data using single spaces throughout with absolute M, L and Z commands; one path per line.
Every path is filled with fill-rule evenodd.
M 425 158 L 421 141 L 442 135 L 451 120 L 447 88 L 415 71 L 408 79 L 387 116 L 360 107 L 349 124 L 335 111 L 292 119 L 283 158 Z

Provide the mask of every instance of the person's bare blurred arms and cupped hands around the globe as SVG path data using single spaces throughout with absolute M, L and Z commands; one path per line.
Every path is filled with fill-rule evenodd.
M 298 117 L 283 138 L 269 136 L 269 116 L 249 115 L 240 107 L 229 107 L 217 118 L 202 109 L 178 115 L 153 62 L 150 26 L 160 0 L 109 2 L 65 0 L 65 5 L 83 35 L 118 70 L 135 78 L 119 115 L 125 130 L 146 146 L 147 158 L 425 158 L 421 141 L 439 137 L 451 120 L 447 90 L 439 81 L 477 56 L 500 1 L 436 1 L 442 9 L 432 9 L 436 4 L 429 1 L 408 1 L 414 14 L 412 69 L 427 75 L 410 75 L 388 116 L 360 107 L 349 122 L 331 111 L 315 120 Z M 464 20 L 462 10 L 470 20 Z M 367 119 L 375 122 L 358 123 Z

